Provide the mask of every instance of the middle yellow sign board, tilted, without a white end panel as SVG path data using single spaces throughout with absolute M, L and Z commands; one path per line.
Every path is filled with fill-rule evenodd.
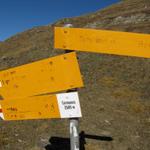
M 74 52 L 0 72 L 0 99 L 23 98 L 82 86 Z

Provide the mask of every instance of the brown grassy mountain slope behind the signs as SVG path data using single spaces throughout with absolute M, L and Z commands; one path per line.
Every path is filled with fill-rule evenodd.
M 66 23 L 150 33 L 150 1 L 123 0 L 95 13 L 17 34 L 0 43 L 0 69 L 63 53 L 53 49 L 53 27 Z M 80 90 L 80 129 L 113 138 L 87 139 L 86 150 L 149 150 L 150 60 L 80 52 L 78 55 L 85 81 L 85 88 Z M 0 122 L 0 126 L 1 150 L 43 150 L 50 137 L 68 136 L 67 120 Z

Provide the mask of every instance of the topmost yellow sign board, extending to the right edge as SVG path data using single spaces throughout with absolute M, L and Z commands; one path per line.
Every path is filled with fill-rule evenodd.
M 56 27 L 55 48 L 150 58 L 150 35 Z

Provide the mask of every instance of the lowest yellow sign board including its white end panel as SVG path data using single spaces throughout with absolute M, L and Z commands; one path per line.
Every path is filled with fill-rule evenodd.
M 81 117 L 77 92 L 0 101 L 3 120 Z

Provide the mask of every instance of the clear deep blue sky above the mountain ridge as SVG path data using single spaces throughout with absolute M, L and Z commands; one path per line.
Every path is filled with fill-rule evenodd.
M 97 11 L 119 0 L 0 0 L 0 41 L 35 26 Z

